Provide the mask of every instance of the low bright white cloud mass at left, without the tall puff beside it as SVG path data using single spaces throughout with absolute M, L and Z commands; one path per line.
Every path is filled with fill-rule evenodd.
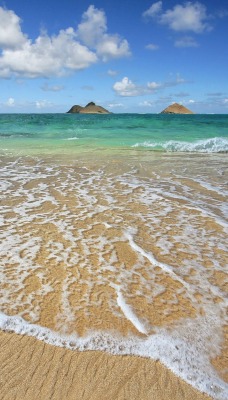
M 0 57 L 1 71 L 31 78 L 63 75 L 67 70 L 81 70 L 97 61 L 96 55 L 74 39 L 67 29 L 57 36 L 39 36 L 19 49 L 5 49 Z

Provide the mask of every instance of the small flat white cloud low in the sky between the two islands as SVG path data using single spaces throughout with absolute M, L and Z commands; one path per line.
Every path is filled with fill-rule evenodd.
M 147 82 L 146 85 L 137 85 L 136 83 L 132 82 L 128 77 L 124 77 L 121 81 L 114 83 L 113 89 L 118 96 L 134 97 L 146 94 L 153 94 L 158 90 L 177 86 L 186 82 L 187 81 L 185 79 L 177 75 L 176 79 L 171 81 L 166 81 L 163 83 Z

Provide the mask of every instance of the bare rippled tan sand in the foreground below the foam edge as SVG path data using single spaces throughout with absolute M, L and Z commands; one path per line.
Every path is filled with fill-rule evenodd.
M 160 362 L 78 352 L 0 332 L 4 400 L 206 400 Z

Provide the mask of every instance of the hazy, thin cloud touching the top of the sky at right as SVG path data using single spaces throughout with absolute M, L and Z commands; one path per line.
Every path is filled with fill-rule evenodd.
M 162 2 L 159 1 L 152 4 L 143 15 L 156 18 L 160 24 L 167 25 L 176 32 L 202 33 L 211 29 L 206 7 L 199 2 L 188 1 L 185 4 L 177 4 L 172 9 L 163 11 Z

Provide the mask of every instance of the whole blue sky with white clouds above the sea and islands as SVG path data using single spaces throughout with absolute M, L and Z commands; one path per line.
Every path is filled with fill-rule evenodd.
M 228 113 L 228 2 L 0 0 L 0 113 Z

